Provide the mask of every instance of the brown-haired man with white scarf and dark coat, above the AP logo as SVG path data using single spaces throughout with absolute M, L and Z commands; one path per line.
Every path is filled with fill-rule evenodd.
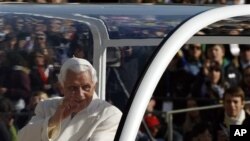
M 223 112 L 219 111 L 215 121 L 216 139 L 229 140 L 230 125 L 250 125 L 250 115 L 244 110 L 245 93 L 241 87 L 232 87 L 223 96 Z

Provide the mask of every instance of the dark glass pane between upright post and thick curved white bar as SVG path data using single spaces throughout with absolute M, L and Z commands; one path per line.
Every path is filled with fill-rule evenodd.
M 107 49 L 106 97 L 122 111 L 155 48 L 132 46 Z

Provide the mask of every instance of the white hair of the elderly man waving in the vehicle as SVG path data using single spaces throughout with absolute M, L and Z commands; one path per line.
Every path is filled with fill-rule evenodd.
M 66 60 L 63 63 L 60 69 L 60 73 L 58 75 L 58 80 L 62 85 L 65 81 L 66 73 L 68 70 L 71 70 L 76 73 L 89 71 L 91 74 L 93 83 L 96 84 L 97 82 L 96 70 L 90 64 L 90 62 L 85 59 L 73 57 L 73 58 Z

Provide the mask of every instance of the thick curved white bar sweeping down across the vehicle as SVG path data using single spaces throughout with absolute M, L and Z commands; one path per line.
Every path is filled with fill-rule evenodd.
M 248 14 L 250 14 L 250 5 L 224 6 L 203 12 L 178 27 L 159 50 L 144 75 L 125 120 L 120 141 L 135 140 L 147 104 L 152 97 L 162 74 L 177 51 L 194 34 L 219 20 Z M 172 138 L 169 137 L 169 141 L 171 141 L 171 139 Z

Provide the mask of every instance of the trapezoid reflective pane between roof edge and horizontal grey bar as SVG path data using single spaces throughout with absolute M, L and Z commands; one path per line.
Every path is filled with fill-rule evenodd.
M 188 16 L 98 16 L 107 26 L 110 39 L 163 38 Z

